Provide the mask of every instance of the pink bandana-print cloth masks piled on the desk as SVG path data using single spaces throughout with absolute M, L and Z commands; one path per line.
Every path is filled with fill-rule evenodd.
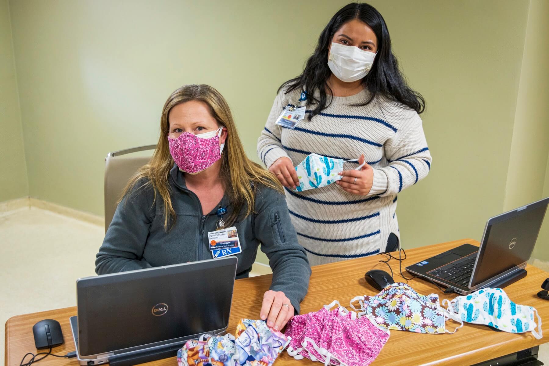
M 334 309 L 332 307 L 337 305 Z M 317 312 L 297 315 L 288 322 L 285 336 L 288 354 L 325 365 L 367 366 L 376 359 L 389 339 L 371 316 L 357 317 L 334 301 Z

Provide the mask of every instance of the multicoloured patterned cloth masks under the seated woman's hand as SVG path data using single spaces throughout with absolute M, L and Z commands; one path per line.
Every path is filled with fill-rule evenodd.
M 204 334 L 177 351 L 179 366 L 271 366 L 289 339 L 264 320 L 240 319 L 236 336 Z

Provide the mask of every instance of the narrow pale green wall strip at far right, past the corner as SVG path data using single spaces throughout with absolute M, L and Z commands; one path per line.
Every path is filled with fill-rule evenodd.
M 549 153 L 549 1 L 532 0 L 507 173 L 504 209 L 542 198 Z M 547 220 L 549 221 L 549 219 Z M 547 250 L 549 259 L 549 248 Z

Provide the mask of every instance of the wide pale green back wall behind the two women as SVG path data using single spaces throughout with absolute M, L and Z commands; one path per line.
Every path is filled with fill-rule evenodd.
M 10 2 L 30 194 L 102 215 L 103 157 L 156 142 L 162 105 L 185 83 L 225 95 L 257 161 L 277 87 L 299 74 L 346 3 Z M 433 169 L 399 196 L 402 243 L 480 239 L 486 218 L 503 210 L 509 156 L 517 156 L 530 2 L 371 3 L 427 99 Z

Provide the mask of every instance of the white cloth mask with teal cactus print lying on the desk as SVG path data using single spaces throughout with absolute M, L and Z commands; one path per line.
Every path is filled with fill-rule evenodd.
M 445 299 L 442 304 L 467 323 L 489 325 L 509 333 L 531 331 L 536 339 L 542 337 L 541 318 L 537 310 L 531 306 L 517 305 L 502 289 L 485 288 L 470 295 L 457 296 L 452 301 Z

